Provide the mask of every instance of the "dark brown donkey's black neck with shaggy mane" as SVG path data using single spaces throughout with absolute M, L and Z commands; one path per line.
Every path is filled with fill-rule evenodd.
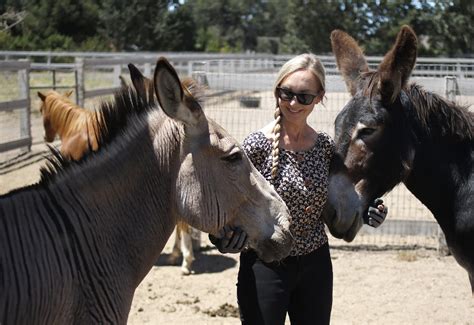
M 453 220 L 456 195 L 472 178 L 472 115 L 416 84 L 407 95 L 402 101 L 414 159 L 405 184 L 442 225 Z

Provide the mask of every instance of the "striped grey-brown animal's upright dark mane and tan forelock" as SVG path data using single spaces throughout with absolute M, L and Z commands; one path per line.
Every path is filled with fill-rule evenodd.
M 196 81 L 186 78 L 182 81 L 182 85 L 186 98 L 198 103 L 202 101 L 203 88 Z M 156 105 L 158 105 L 156 100 L 142 98 L 133 86 L 124 86 L 117 90 L 113 100 L 101 102 L 97 114 L 93 117 L 98 126 L 95 131 L 99 147 L 112 143 L 130 125 L 132 119 L 151 111 Z M 58 149 L 50 145 L 48 147 L 52 156 L 47 158 L 46 165 L 40 169 L 39 184 L 48 184 L 70 166 L 81 165 L 89 157 L 100 154 L 100 150 L 90 151 L 80 160 L 73 161 L 66 159 Z

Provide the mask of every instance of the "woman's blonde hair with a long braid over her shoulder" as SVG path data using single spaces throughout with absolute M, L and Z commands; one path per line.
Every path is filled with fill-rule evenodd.
M 311 71 L 316 78 L 319 80 L 322 88 L 322 95 L 324 96 L 324 92 L 326 90 L 326 73 L 324 71 L 324 66 L 321 61 L 316 57 L 316 55 L 312 53 L 304 53 L 298 56 L 295 56 L 291 60 L 287 61 L 278 72 L 277 79 L 273 86 L 273 95 L 275 96 L 276 105 L 275 105 L 275 112 L 273 117 L 275 118 L 275 125 L 273 126 L 273 143 L 272 143 L 272 170 L 271 175 L 272 179 L 275 179 L 278 173 L 278 157 L 280 155 L 280 130 L 281 130 L 281 111 L 280 106 L 278 105 L 278 95 L 277 95 L 277 87 L 280 86 L 280 83 L 285 79 L 288 75 L 292 74 L 298 70 L 309 70 Z

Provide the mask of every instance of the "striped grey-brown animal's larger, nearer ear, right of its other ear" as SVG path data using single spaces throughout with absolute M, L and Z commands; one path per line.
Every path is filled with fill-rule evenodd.
M 164 57 L 159 58 L 156 63 L 154 87 L 158 102 L 166 115 L 188 126 L 198 125 L 203 116 L 202 109 L 199 105 L 187 105 L 178 74 Z

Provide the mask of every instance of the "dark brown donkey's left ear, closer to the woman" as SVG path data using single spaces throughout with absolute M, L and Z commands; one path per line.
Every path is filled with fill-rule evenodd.
M 331 46 L 347 90 L 354 96 L 357 91 L 357 78 L 361 72 L 369 71 L 364 53 L 351 36 L 338 29 L 331 33 Z

